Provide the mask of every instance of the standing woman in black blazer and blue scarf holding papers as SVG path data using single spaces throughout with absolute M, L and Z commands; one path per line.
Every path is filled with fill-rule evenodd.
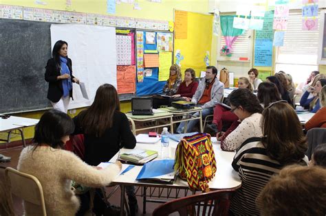
M 72 75 L 72 60 L 68 58 L 68 44 L 58 40 L 52 50 L 52 58 L 47 60 L 45 81 L 49 82 L 47 99 L 50 99 L 54 109 L 67 113 L 70 97 L 72 97 L 72 82 L 79 80 Z

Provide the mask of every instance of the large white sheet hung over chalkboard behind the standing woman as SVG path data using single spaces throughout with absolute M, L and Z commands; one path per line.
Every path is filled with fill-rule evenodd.
M 85 83 L 89 99 L 83 98 L 78 84 L 73 84 L 74 100 L 69 108 L 91 105 L 98 86 L 109 83 L 117 88 L 116 28 L 94 25 L 52 24 L 52 49 L 56 41 L 68 43 L 73 75 Z

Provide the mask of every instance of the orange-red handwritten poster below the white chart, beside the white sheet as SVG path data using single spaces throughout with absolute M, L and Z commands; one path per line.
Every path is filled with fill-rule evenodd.
M 135 65 L 117 66 L 118 94 L 135 93 Z

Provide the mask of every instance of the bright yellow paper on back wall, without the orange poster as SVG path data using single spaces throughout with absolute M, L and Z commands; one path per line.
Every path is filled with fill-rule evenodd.
M 206 71 L 206 64 L 216 66 L 216 62 L 207 58 L 207 53 L 212 53 L 212 34 L 213 15 L 188 12 L 187 39 L 176 38 L 174 43 L 174 62 L 181 61 L 182 74 L 192 68 L 199 77 L 200 71 Z

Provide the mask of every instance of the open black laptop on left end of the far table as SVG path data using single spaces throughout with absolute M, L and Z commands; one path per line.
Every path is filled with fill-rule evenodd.
M 133 115 L 154 115 L 153 98 L 133 97 L 131 99 L 131 110 Z

